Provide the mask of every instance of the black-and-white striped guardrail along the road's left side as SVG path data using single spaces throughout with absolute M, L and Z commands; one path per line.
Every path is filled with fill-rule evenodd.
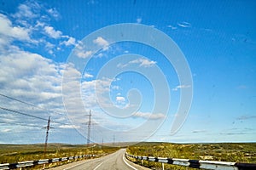
M 96 155 L 81 155 L 81 156 L 69 156 L 69 157 L 61 157 L 61 158 L 52 158 L 52 159 L 42 159 L 36 161 L 20 161 L 17 163 L 3 163 L 0 164 L 0 169 L 15 169 L 20 167 L 32 167 L 35 165 L 42 165 L 57 161 L 68 161 L 73 159 L 79 159 L 84 157 L 95 157 Z

